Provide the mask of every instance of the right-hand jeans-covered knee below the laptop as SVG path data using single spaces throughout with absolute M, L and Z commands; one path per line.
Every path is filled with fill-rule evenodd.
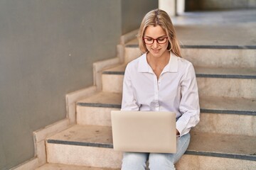
M 153 154 L 149 155 L 149 169 L 151 170 L 166 170 L 175 169 L 174 160 L 170 154 Z

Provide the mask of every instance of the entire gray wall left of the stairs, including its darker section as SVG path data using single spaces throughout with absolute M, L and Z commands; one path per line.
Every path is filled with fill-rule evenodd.
M 157 7 L 143 2 L 0 0 L 1 170 L 34 156 L 33 131 L 65 118 L 65 94 L 92 86 L 92 63 Z

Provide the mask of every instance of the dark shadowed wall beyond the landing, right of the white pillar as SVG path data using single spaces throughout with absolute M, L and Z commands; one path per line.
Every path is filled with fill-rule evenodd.
M 186 0 L 186 11 L 256 8 L 255 0 Z

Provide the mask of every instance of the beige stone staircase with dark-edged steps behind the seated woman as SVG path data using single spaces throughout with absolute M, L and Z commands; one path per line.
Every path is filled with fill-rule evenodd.
M 48 164 L 38 170 L 120 169 L 110 111 L 121 108 L 124 69 L 140 55 L 137 43 L 125 45 L 124 64 L 102 72 L 101 91 L 77 101 L 77 124 L 46 140 Z M 256 50 L 183 47 L 182 52 L 196 69 L 201 121 L 176 169 L 256 169 Z

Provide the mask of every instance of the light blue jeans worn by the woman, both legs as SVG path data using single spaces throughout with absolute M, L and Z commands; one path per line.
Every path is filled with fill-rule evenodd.
M 177 139 L 177 152 L 175 154 L 124 152 L 122 170 L 144 170 L 149 160 L 150 170 L 173 170 L 174 164 L 186 152 L 190 141 L 189 133 Z

